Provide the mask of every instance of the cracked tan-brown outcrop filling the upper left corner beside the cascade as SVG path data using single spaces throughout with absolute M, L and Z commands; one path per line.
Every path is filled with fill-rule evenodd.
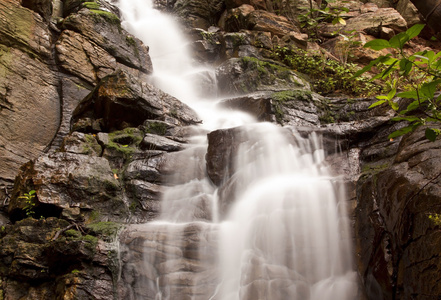
M 121 28 L 106 1 L 93 9 L 66 1 L 58 28 L 49 22 L 51 1 L 22 4 L 0 4 L 0 127 L 7 128 L 0 133 L 0 184 L 8 189 L 20 165 L 60 146 L 72 110 L 101 78 L 117 68 L 152 72 L 148 48 Z

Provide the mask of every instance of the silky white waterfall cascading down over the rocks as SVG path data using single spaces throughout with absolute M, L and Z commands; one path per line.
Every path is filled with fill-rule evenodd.
M 173 154 L 160 216 L 124 232 L 120 298 L 356 299 L 344 192 L 320 138 L 201 97 L 194 76 L 210 72 L 194 67 L 173 18 L 149 1 L 119 0 L 123 26 L 150 47 L 153 83 L 190 105 L 204 134 Z M 219 191 L 206 175 L 206 132 L 232 127 L 240 143 Z

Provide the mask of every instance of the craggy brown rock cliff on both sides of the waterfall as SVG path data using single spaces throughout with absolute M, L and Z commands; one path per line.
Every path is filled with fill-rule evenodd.
M 428 215 L 441 213 L 440 143 L 428 142 L 422 131 L 389 141 L 400 126 L 389 124 L 392 112 L 368 110 L 373 99 L 319 94 L 278 60 L 277 47 L 319 47 L 289 19 L 308 6 L 297 2 L 156 5 L 182 20 L 196 59 L 217 66 L 216 83 L 197 78 L 201 93 L 219 88 L 223 107 L 323 133 L 329 164 L 344 174 L 352 206 L 360 298 L 433 299 L 441 293 L 441 244 Z M 349 1 L 346 25 L 329 24 L 323 36 L 355 29 L 368 40 L 368 33 L 398 33 L 418 17 L 377 4 Z M 341 55 L 332 46 L 336 39 L 323 44 L 327 57 Z M 356 51 L 360 62 L 373 55 Z M 179 99 L 150 84 L 152 71 L 148 45 L 121 27 L 118 10 L 104 0 L 0 2 L 5 299 L 118 299 L 126 291 L 118 283 L 116 236 L 126 224 L 158 215 L 167 178 L 176 170 L 186 176 L 177 153 L 199 122 Z M 236 130 L 210 133 L 208 152 L 194 153 L 221 191 L 221 210 L 234 184 L 224 181 L 234 171 L 226 158 L 242 142 Z M 129 242 L 137 249 L 134 236 Z

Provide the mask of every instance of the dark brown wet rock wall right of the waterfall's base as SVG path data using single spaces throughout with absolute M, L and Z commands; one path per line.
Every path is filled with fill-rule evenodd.
M 418 129 L 401 140 L 390 167 L 371 169 L 357 184 L 357 251 L 370 298 L 439 293 L 441 244 L 428 218 L 439 213 L 439 147 Z

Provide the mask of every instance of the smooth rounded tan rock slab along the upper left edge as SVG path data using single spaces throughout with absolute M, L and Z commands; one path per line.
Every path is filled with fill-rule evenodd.
M 4 185 L 55 137 L 61 99 L 59 79 L 51 67 L 48 24 L 8 0 L 0 4 L 0 27 L 0 184 Z

